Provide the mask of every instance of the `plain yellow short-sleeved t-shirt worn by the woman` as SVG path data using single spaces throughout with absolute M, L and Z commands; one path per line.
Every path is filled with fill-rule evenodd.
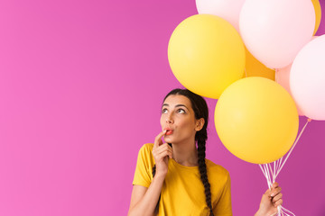
M 149 187 L 153 181 L 153 144 L 144 144 L 139 150 L 133 184 Z M 230 176 L 228 171 L 206 158 L 215 216 L 232 216 Z M 174 159 L 168 161 L 168 173 L 163 182 L 159 216 L 206 216 L 204 185 L 200 180 L 199 166 L 182 166 Z

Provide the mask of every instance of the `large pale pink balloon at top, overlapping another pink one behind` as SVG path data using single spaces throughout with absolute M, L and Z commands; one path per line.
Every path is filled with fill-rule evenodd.
M 314 28 L 311 0 L 246 0 L 239 15 L 246 48 L 270 68 L 291 64 Z

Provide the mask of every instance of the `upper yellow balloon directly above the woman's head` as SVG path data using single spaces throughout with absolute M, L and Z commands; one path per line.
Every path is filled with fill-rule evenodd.
M 196 14 L 172 32 L 168 45 L 172 73 L 190 91 L 218 99 L 245 67 L 245 48 L 236 29 L 211 14 Z

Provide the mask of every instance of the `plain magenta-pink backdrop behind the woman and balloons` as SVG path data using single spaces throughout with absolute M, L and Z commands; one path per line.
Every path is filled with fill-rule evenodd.
M 137 152 L 181 86 L 168 40 L 192 14 L 193 0 L 0 2 L 0 215 L 126 215 Z M 265 177 L 223 147 L 216 102 L 207 157 L 230 172 L 234 215 L 253 215 Z M 278 177 L 298 216 L 325 215 L 324 131 L 311 121 Z

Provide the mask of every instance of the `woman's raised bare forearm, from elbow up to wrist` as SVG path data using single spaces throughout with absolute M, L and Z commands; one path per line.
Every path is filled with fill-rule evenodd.
M 144 197 L 135 204 L 135 207 L 133 207 L 131 211 L 129 211 L 129 216 L 153 215 L 160 193 L 162 192 L 164 178 L 165 175 L 158 174 L 153 177 L 153 182 L 148 187 Z

